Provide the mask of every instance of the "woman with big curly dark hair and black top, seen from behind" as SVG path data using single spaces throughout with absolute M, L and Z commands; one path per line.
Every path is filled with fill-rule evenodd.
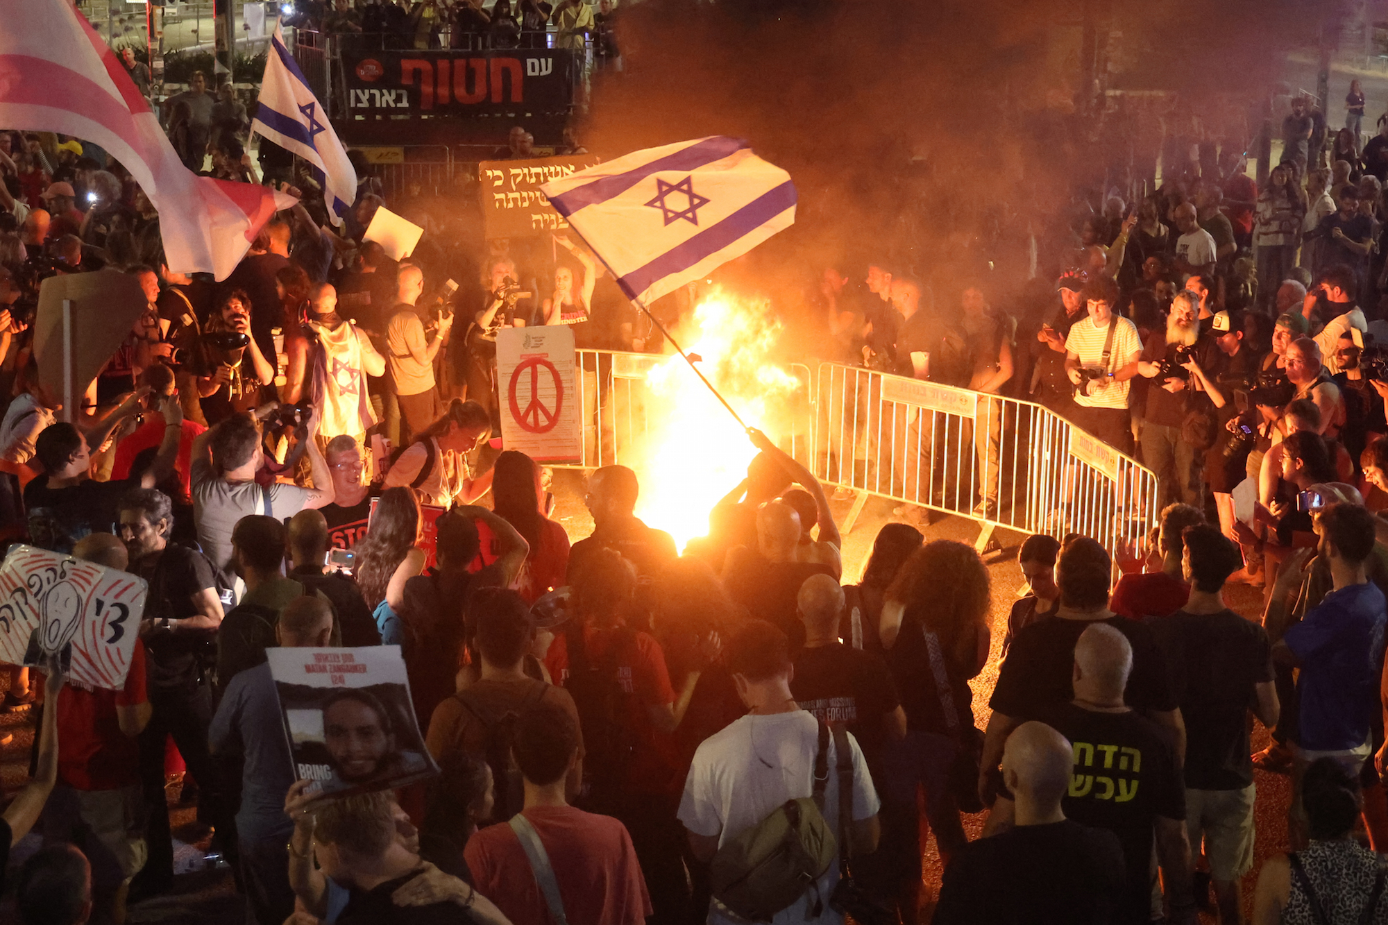
M 945 864 L 966 842 L 949 778 L 960 749 L 976 747 L 969 679 L 988 661 L 988 569 L 973 547 L 934 540 L 906 560 L 881 608 L 879 635 L 906 710 L 906 738 L 888 743 L 883 758 L 879 854 L 899 874 L 902 922 L 916 921 L 920 901 L 917 786 Z

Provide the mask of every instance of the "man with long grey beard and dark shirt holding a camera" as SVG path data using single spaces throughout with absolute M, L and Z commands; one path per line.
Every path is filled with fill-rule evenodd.
M 1199 296 L 1190 289 L 1171 301 L 1166 317 L 1166 331 L 1152 332 L 1138 372 L 1148 379 L 1160 379 L 1146 390 L 1146 412 L 1142 419 L 1142 461 L 1156 472 L 1159 506 L 1176 501 L 1199 507 L 1201 450 L 1184 439 L 1183 431 L 1190 411 L 1191 393 L 1199 389 L 1184 367 L 1188 362 L 1208 371 L 1213 367 L 1209 340 L 1201 340 L 1196 319 Z

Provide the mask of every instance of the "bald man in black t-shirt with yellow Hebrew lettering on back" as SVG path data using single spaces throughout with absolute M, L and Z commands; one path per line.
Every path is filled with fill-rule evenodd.
M 1185 781 L 1169 739 L 1123 703 L 1133 671 L 1127 636 L 1091 624 L 1074 644 L 1074 700 L 1045 710 L 1041 719 L 1074 743 L 1074 771 L 1065 797 L 1067 818 L 1105 828 L 1123 844 L 1127 888 L 1116 922 L 1151 917 L 1152 839 L 1171 921 L 1195 918 L 1191 849 L 1185 833 Z M 1006 751 L 1004 751 L 1006 754 Z M 1006 758 L 1004 758 L 1006 782 Z M 999 793 L 988 828 L 1015 824 L 1012 793 Z

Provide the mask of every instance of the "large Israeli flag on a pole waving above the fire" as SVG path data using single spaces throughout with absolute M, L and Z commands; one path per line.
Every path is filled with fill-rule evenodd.
M 790 174 L 736 138 L 651 147 L 540 188 L 616 276 L 650 303 L 795 222 Z

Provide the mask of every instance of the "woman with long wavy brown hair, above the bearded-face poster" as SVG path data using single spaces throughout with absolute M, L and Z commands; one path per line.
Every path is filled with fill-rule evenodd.
M 415 493 L 407 488 L 386 489 L 366 536 L 357 543 L 357 583 L 386 646 L 401 640 L 405 582 L 425 571 L 425 551 L 419 549 L 422 526 Z

